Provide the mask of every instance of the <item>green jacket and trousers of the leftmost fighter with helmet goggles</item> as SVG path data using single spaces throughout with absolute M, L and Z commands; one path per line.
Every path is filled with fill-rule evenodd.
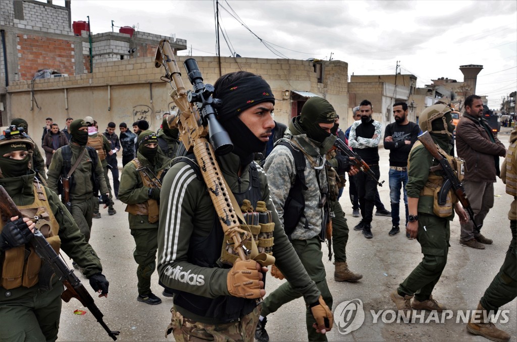
M 33 185 L 34 176 L 34 172 L 31 172 L 27 176 L 0 178 L 0 185 L 4 186 L 17 206 L 30 207 L 35 202 L 35 191 L 39 186 Z M 46 187 L 42 189 L 46 194 L 46 200 L 42 202 L 59 225 L 62 250 L 84 268 L 86 277 L 102 272 L 99 258 L 85 241 L 72 215 L 54 192 Z M 0 252 L 0 265 L 6 252 Z M 0 340 L 54 341 L 57 338 L 62 303 L 60 294 L 64 288 L 56 277 L 52 286 L 49 291 L 40 291 L 37 283 L 31 287 L 10 289 L 0 286 Z

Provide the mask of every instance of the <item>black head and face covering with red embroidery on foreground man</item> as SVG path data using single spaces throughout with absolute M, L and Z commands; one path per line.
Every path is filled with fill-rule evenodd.
M 242 77 L 217 89 L 214 97 L 222 101 L 218 109 L 218 119 L 232 139 L 232 152 L 239 156 L 242 165 L 249 164 L 253 160 L 254 153 L 262 152 L 267 142 L 257 138 L 239 119 L 239 115 L 262 102 L 275 104 L 275 97 L 269 84 L 257 75 Z

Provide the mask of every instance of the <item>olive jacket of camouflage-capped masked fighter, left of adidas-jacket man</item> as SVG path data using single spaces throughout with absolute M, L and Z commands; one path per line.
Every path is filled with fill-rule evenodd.
M 140 152 L 138 152 L 137 155 L 138 157 L 136 159 L 138 159 L 143 166 L 149 167 L 155 175 L 158 175 L 161 169 L 169 167 L 171 161 L 160 153 L 156 153 L 155 163 L 151 165 Z M 149 177 L 153 177 L 153 175 L 149 173 Z M 149 188 L 142 183 L 142 177 L 140 176 L 140 172 L 136 170 L 135 165 L 132 162 L 127 163 L 122 169 L 122 175 L 120 176 L 118 199 L 125 204 L 144 203 L 149 199 L 148 191 Z M 147 215 L 133 215 L 128 213 L 128 220 L 129 228 L 131 229 L 158 228 L 158 222 L 149 223 Z

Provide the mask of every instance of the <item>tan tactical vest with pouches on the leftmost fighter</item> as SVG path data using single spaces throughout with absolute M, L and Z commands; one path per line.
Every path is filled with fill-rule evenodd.
M 58 236 L 59 225 L 50 208 L 47 194 L 39 183 L 34 183 L 33 186 L 34 203 L 27 206 L 18 206 L 18 209 L 22 212 L 23 217 L 34 219 L 34 216 L 38 216 L 39 221 L 36 223 L 36 228 L 47 238 L 54 251 L 59 253 L 61 245 Z M 0 231 L 3 227 L 4 221 L 0 222 Z M 41 269 L 41 262 L 40 257 L 29 244 L 9 248 L 0 260 L 0 265 L 2 265 L 0 286 L 7 290 L 20 286 L 33 287 L 39 280 L 38 274 Z

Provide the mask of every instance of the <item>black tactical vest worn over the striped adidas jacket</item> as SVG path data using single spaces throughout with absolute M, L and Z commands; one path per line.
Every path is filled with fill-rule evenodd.
M 177 162 L 187 162 L 196 172 L 197 179 L 203 180 L 199 166 L 192 159 L 179 157 L 174 160 Z M 257 201 L 261 200 L 260 181 L 255 163 L 249 167 L 250 186 L 245 192 L 233 193 L 237 203 L 242 205 L 244 199 L 248 199 L 255 208 Z M 194 265 L 208 268 L 231 268 L 220 262 L 221 246 L 223 245 L 224 232 L 222 230 L 217 213 L 214 214 L 214 225 L 210 234 L 206 237 L 199 236 L 193 232 L 187 260 Z M 245 299 L 233 296 L 220 296 L 217 298 L 207 298 L 196 294 L 175 290 L 174 304 L 185 308 L 190 313 L 206 318 L 212 324 L 229 323 L 238 321 L 240 317 L 249 314 L 256 306 L 254 299 Z

